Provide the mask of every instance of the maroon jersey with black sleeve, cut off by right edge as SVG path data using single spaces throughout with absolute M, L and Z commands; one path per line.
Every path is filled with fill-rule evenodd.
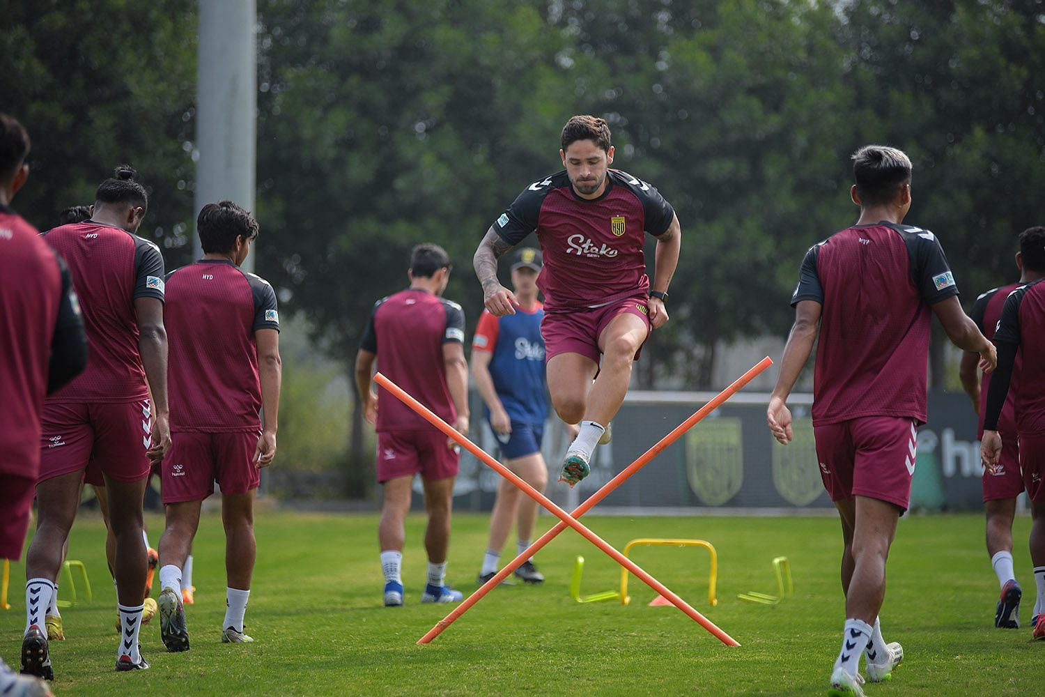
M 1015 393 L 1017 433 L 1045 433 L 1045 284 L 1035 281 L 1008 294 L 994 342 L 1015 344 L 1027 357 L 1008 390 L 1009 397 Z

